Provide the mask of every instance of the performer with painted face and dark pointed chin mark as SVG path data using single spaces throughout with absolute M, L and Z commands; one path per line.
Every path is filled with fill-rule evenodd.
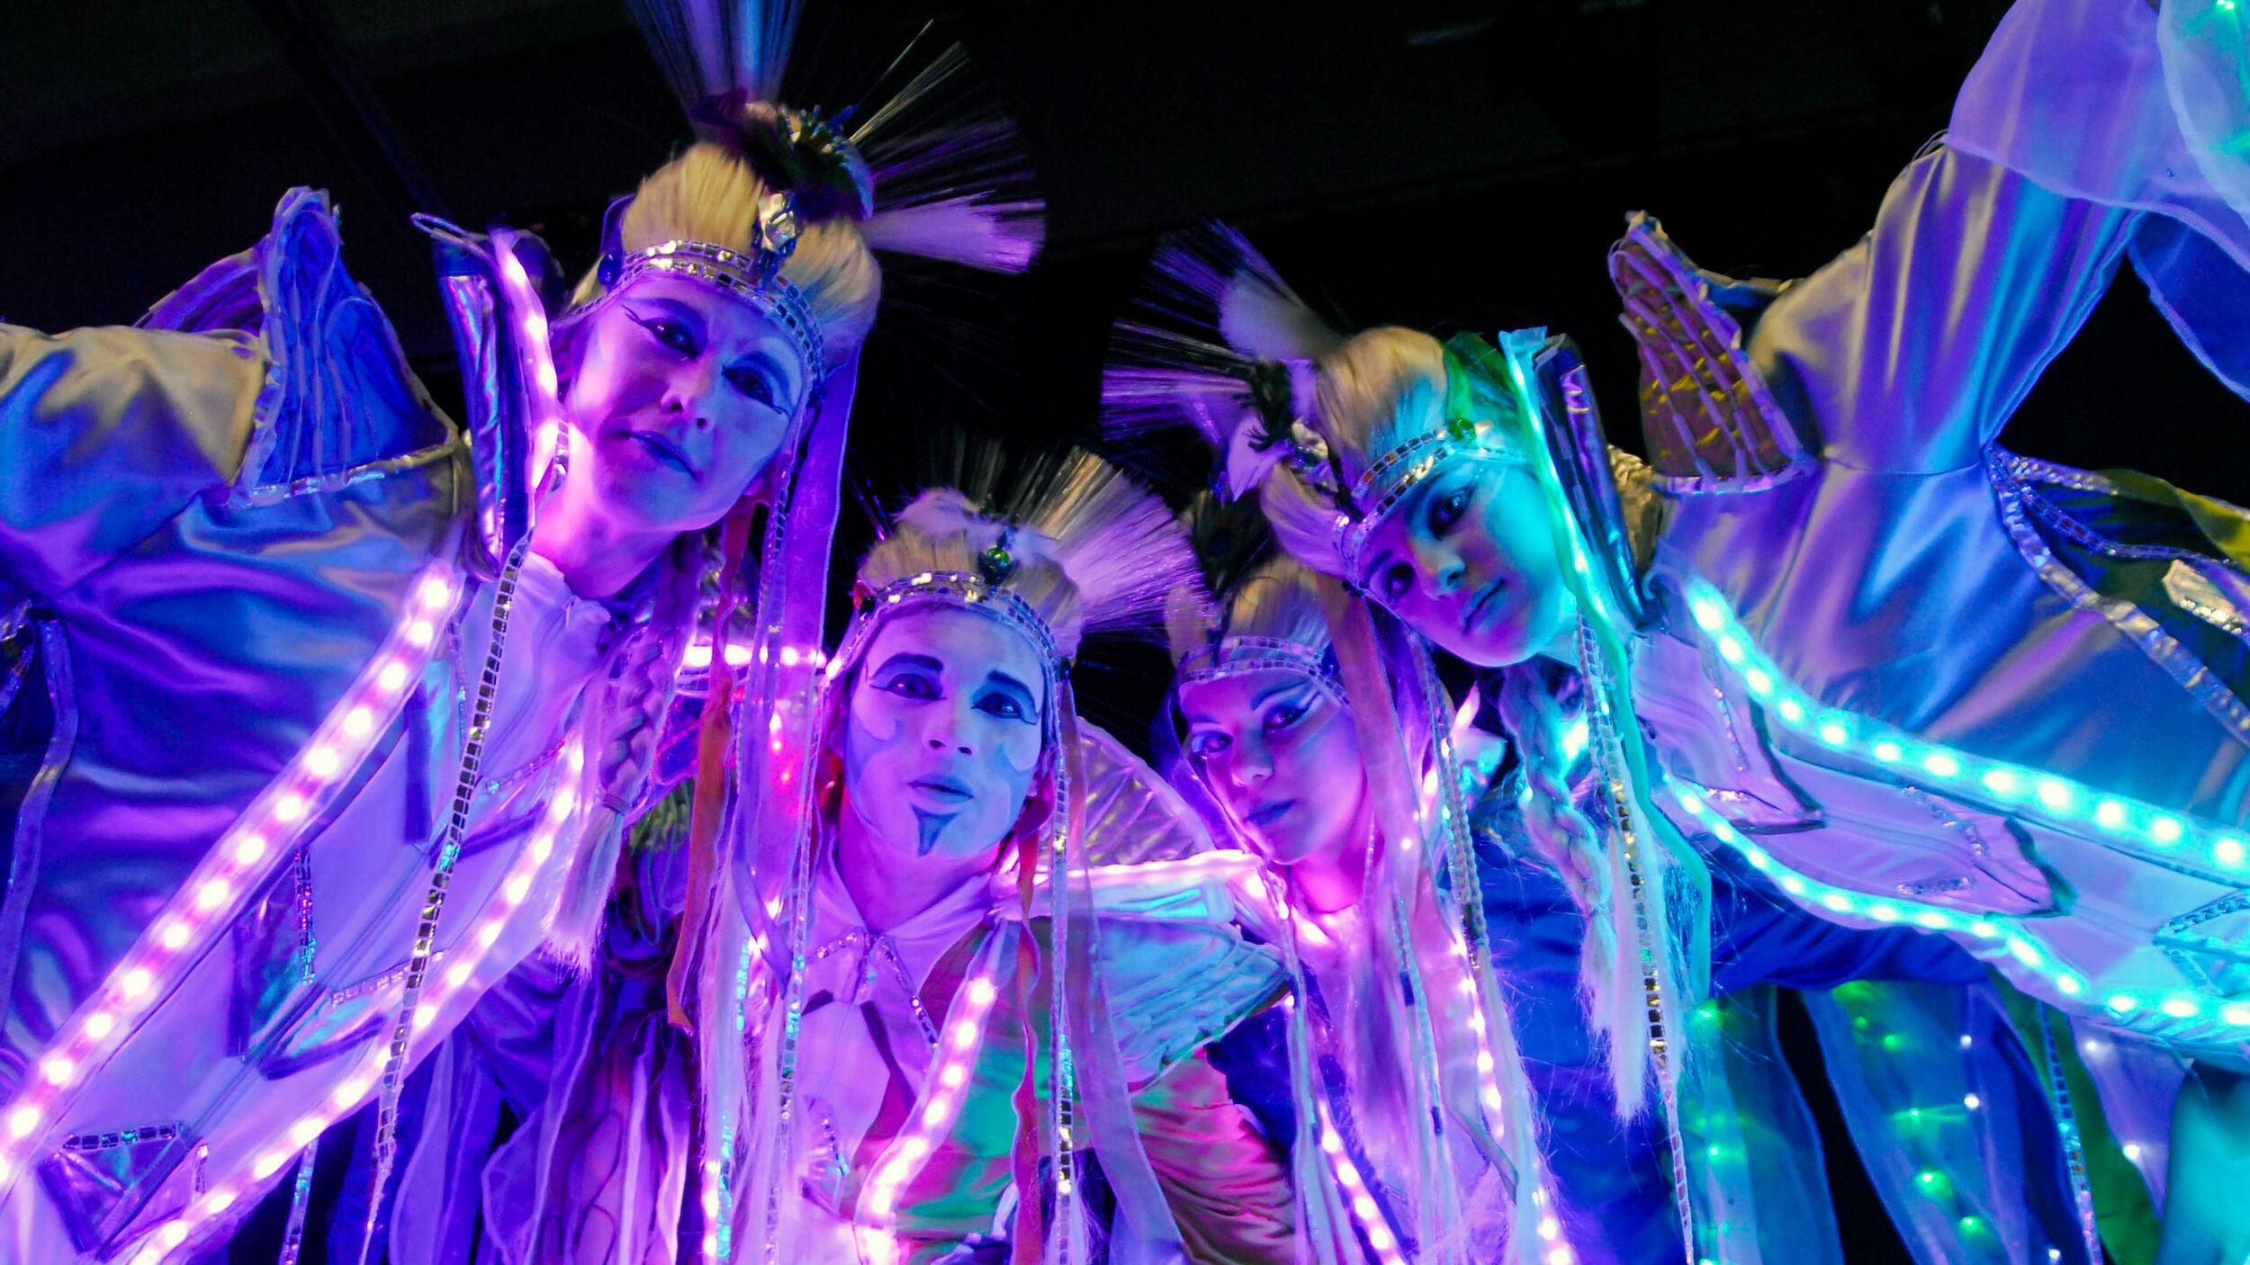
M 922 493 L 862 560 L 819 743 L 758 743 L 808 817 L 736 840 L 713 903 L 706 1254 L 1294 1256 L 1276 1148 L 1199 1053 L 1282 990 L 1231 923 L 1249 860 L 1071 702 L 1084 632 L 1190 576 L 1089 457 L 992 513 Z

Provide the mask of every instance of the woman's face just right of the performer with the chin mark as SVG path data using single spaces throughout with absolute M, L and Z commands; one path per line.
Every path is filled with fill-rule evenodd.
M 1274 864 L 1354 846 L 1368 774 L 1352 718 L 1312 678 L 1260 669 L 1179 687 L 1188 754 Z

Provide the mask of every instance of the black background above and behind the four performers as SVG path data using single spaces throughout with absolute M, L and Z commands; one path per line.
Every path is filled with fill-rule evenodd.
M 356 275 L 450 398 L 452 349 L 405 214 L 531 225 L 585 268 L 603 205 L 686 137 L 621 0 L 7 9 L 0 317 L 16 324 L 130 322 L 250 245 L 284 189 L 317 185 L 344 207 Z M 898 311 L 868 347 L 853 419 L 860 477 L 896 504 L 940 423 L 1017 446 L 1084 434 L 1107 326 L 1150 243 L 1197 216 L 1246 230 L 1307 297 L 1357 324 L 1573 333 L 1613 439 L 1638 448 L 1631 344 L 1604 272 L 1622 214 L 1656 212 L 1710 268 L 1814 270 L 1865 230 L 1892 173 L 1944 126 L 1953 86 L 2002 9 L 817 7 L 792 101 L 850 104 L 934 18 L 925 52 L 968 45 L 1019 119 L 1051 205 L 1051 245 L 1028 277 L 961 284 L 893 270 Z M 2246 416 L 2124 275 L 2007 443 L 2246 500 Z M 1089 680 L 1102 696 L 1089 700 L 1096 718 L 1134 732 L 1159 673 Z M 1796 1035 L 1796 1056 L 1816 1062 Z M 1834 1114 L 1807 1071 L 1816 1107 Z M 1850 1258 L 1906 1260 L 1847 1146 L 1832 1141 L 1829 1170 Z M 324 1177 L 333 1186 L 342 1175 Z M 236 1256 L 270 1260 L 270 1242 Z M 320 1258 L 308 1242 L 306 1260 Z

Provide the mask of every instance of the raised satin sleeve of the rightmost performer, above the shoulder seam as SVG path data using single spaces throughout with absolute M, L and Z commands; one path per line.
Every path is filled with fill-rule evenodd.
M 1865 239 L 1757 320 L 1750 358 L 1825 457 L 1973 464 L 2126 252 L 2189 349 L 2236 392 L 2250 385 L 2250 230 L 2182 133 L 2167 70 L 2185 54 L 2160 41 L 2182 5 L 2164 9 L 2016 5 L 1944 144 L 1892 182 Z M 2228 56 L 2239 70 L 2243 50 Z

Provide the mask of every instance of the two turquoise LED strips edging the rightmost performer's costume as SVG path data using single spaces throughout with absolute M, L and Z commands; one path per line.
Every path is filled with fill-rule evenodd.
M 2250 887 L 2250 873 L 2246 873 L 2250 840 L 2243 840 L 2241 833 L 2212 826 L 2185 813 L 2108 795 L 2045 770 L 1991 761 L 1958 747 L 1928 743 L 1856 711 L 1827 707 L 1773 666 L 1773 660 L 1757 648 L 1757 642 L 1742 628 L 1717 587 L 1701 578 L 1685 578 L 1681 590 L 1688 596 L 1688 612 L 1694 617 L 1696 628 L 1710 637 L 1726 671 L 1742 682 L 1753 700 L 1780 718 L 1782 725 L 1822 747 L 1899 770 L 1910 781 L 1946 788 L 1948 792 L 1966 792 L 1998 813 L 2048 822 L 2077 835 L 2092 835 L 2117 851 L 2146 858 L 2167 869 L 2230 887 Z M 1742 853 L 1750 869 L 1773 878 L 1782 891 L 1807 909 L 1827 918 L 1845 916 L 1874 925 L 1912 923 L 1933 932 L 1966 932 L 1978 939 L 2002 941 L 2007 954 L 2023 970 L 2041 975 L 2066 997 L 2086 993 L 2086 979 L 2061 966 L 2025 930 L 2020 918 L 2007 914 L 1966 914 L 1942 905 L 1832 887 L 1784 867 L 1773 853 L 1750 842 L 1710 806 L 1694 783 L 1674 777 L 1667 790 L 1710 835 Z M 2117 988 L 2106 993 L 2102 1004 L 2115 1015 L 2153 1008 L 2171 1020 L 2200 1020 L 2212 999 L 2182 990 Z M 2218 1024 L 2250 1031 L 2250 1002 L 2223 1002 L 2212 1013 Z

